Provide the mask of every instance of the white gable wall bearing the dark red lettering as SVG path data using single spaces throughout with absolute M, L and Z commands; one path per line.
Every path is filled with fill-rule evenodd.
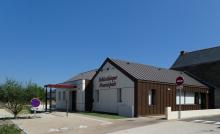
M 111 87 L 100 87 L 99 78 L 117 76 L 116 85 Z M 117 70 L 110 63 L 106 63 L 103 70 L 99 72 L 93 81 L 93 111 L 118 113 L 119 115 L 134 116 L 134 82 Z M 122 90 L 122 102 L 117 101 L 117 89 Z M 95 91 L 99 90 L 99 102 L 96 101 Z

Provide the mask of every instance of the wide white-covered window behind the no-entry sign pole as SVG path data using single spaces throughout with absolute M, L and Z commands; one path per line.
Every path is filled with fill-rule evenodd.
M 176 92 L 176 104 L 180 104 L 179 102 L 179 90 Z M 195 104 L 195 93 L 182 91 L 181 92 L 181 104 Z

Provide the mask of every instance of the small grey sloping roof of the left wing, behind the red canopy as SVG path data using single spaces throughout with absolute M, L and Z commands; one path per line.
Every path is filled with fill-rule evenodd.
M 80 73 L 80 74 L 70 78 L 69 80 L 65 81 L 64 83 L 73 82 L 76 80 L 91 80 L 93 78 L 93 76 L 96 74 L 96 71 L 97 71 L 97 69 Z

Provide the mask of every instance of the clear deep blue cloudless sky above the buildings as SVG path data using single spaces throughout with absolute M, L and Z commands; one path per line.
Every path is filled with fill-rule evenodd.
M 169 68 L 220 43 L 219 0 L 0 1 L 0 83 L 58 83 L 106 57 Z

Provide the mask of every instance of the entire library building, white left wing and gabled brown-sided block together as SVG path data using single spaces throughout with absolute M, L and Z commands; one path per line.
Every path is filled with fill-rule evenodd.
M 184 78 L 179 98 L 176 78 Z M 107 58 L 98 70 L 81 73 L 62 84 L 73 89 L 56 89 L 57 109 L 96 111 L 128 117 L 165 114 L 210 108 L 210 89 L 182 71 Z M 179 99 L 181 101 L 179 102 Z

